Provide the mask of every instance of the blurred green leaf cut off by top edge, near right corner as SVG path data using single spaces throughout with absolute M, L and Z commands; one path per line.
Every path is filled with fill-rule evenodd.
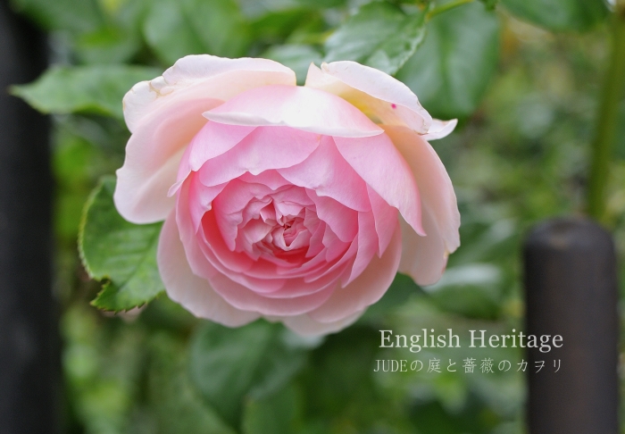
M 514 16 L 554 31 L 592 29 L 609 11 L 602 0 L 501 0 Z

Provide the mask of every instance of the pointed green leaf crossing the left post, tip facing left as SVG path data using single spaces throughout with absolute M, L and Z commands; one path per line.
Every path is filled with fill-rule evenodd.
M 127 65 L 54 66 L 36 81 L 11 88 L 41 113 L 88 112 L 123 119 L 121 99 L 138 81 L 160 71 Z

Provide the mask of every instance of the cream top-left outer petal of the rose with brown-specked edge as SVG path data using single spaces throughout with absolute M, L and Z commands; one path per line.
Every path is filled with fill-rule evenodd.
M 124 117 L 129 130 L 135 132 L 146 118 L 169 111 L 172 104 L 195 104 L 206 98 L 228 101 L 251 88 L 271 84 L 295 86 L 296 74 L 267 59 L 187 55 L 162 77 L 141 81 L 131 88 L 123 100 Z

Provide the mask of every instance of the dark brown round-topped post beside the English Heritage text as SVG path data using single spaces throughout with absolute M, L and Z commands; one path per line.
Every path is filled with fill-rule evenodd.
M 529 432 L 617 434 L 619 320 L 612 237 L 592 221 L 546 221 L 529 234 L 524 261 L 528 335 L 563 338 L 562 347 L 548 353 L 527 349 Z M 540 361 L 545 367 L 536 372 Z

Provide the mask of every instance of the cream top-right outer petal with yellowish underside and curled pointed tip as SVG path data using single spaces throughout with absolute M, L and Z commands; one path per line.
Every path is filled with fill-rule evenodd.
M 305 86 L 341 96 L 377 123 L 406 126 L 429 139 L 445 137 L 457 122 L 432 120 L 404 83 L 360 63 L 321 63 L 321 69 L 311 64 Z

